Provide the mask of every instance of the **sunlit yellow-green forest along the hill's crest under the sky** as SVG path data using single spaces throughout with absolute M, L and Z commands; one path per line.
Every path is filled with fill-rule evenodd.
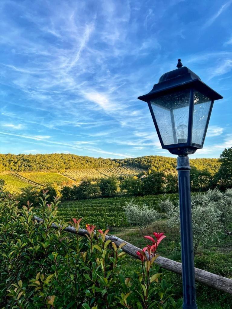
M 191 159 L 190 164 L 212 175 L 220 166 L 218 159 Z M 127 159 L 103 159 L 71 154 L 12 155 L 0 154 L 1 171 L 58 171 L 134 166 L 154 171 L 176 172 L 176 158 L 144 156 Z

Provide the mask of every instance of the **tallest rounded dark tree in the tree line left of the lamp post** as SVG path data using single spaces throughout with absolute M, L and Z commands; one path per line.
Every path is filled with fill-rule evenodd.
M 163 192 L 165 177 L 163 172 L 152 171 L 143 180 L 143 194 L 160 194 Z

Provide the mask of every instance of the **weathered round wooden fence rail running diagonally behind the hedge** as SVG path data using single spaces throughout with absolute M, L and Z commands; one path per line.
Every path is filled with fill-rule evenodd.
M 39 217 L 34 217 L 34 219 L 38 222 L 43 221 L 43 219 Z M 54 223 L 52 224 L 52 227 L 58 229 L 58 226 L 56 226 Z M 64 230 L 76 234 L 75 228 L 73 226 L 67 226 Z M 86 236 L 85 234 L 88 234 L 88 231 L 84 229 L 79 229 L 78 234 L 80 236 Z M 113 235 L 106 235 L 105 239 L 112 240 L 117 246 L 119 246 L 121 243 L 127 243 L 127 241 L 124 241 L 123 239 L 120 239 Z M 135 247 L 131 243 L 127 243 L 124 247 L 122 247 L 122 250 L 129 255 L 135 257 L 136 259 L 139 259 L 136 252 L 141 249 Z M 174 273 L 182 275 L 182 264 L 179 262 L 167 259 L 163 256 L 158 256 L 155 262 L 164 269 L 168 269 Z M 208 271 L 205 271 L 203 269 L 195 268 L 195 280 L 204 283 L 207 286 L 211 286 L 217 290 L 232 294 L 232 280 L 229 278 L 221 277 L 215 275 L 214 273 L 209 273 Z

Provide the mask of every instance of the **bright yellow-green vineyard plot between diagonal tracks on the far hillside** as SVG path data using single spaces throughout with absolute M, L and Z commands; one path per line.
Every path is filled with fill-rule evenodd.
M 57 184 L 73 184 L 74 181 L 54 172 L 21 172 L 19 175 L 42 186 Z

